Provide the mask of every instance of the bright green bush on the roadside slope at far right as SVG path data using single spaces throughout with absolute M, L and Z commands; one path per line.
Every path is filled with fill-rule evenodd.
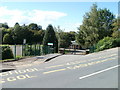
M 97 43 L 95 51 L 102 51 L 105 49 L 119 47 L 119 46 L 120 46 L 119 38 L 114 39 L 112 37 L 105 37 Z

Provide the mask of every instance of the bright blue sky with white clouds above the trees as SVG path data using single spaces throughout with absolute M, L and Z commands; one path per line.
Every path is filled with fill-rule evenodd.
M 0 23 L 13 27 L 36 23 L 46 29 L 48 24 L 60 26 L 66 32 L 78 31 L 83 16 L 96 3 L 98 8 L 107 8 L 118 15 L 118 2 L 1 2 Z

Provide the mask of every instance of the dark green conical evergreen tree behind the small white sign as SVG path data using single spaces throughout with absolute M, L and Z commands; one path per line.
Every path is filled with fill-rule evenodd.
M 48 25 L 44 38 L 43 38 L 43 46 L 47 46 L 48 43 L 53 43 L 54 52 L 58 52 L 58 40 L 53 29 L 52 25 Z

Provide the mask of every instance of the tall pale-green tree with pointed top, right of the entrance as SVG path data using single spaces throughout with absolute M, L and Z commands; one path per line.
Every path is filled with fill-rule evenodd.
M 83 24 L 78 28 L 79 32 L 77 35 L 78 43 L 87 48 L 98 40 L 98 12 L 97 5 L 93 4 L 91 11 L 86 13 L 83 17 Z

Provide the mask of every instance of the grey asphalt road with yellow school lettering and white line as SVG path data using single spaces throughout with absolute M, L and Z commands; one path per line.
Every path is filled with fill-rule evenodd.
M 118 88 L 118 48 L 0 73 L 3 88 Z

